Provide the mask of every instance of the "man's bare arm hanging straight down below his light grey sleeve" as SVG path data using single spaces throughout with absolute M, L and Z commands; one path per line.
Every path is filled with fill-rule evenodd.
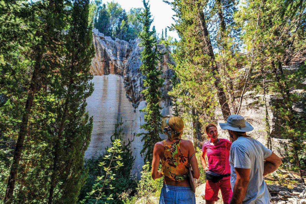
M 242 204 L 248 188 L 250 169 L 235 168 L 235 172 L 237 179 L 230 204 Z

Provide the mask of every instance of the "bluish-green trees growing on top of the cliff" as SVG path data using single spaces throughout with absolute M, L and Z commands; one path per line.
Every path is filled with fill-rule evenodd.
M 129 12 L 118 3 L 108 2 L 101 6 L 101 2 L 92 3 L 95 6 L 94 27 L 106 36 L 125 41 L 137 38 L 142 24 L 139 20 L 141 8 L 132 8 Z

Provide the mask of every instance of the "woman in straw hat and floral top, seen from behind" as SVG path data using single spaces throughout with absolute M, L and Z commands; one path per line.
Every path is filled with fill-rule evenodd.
M 164 176 L 159 203 L 196 203 L 196 197 L 189 183 L 189 163 L 193 177 L 200 177 L 198 162 L 193 157 L 195 151 L 192 142 L 181 139 L 184 123 L 180 117 L 163 117 L 162 130 L 168 136 L 166 140 L 154 146 L 152 161 L 152 178 Z M 159 160 L 162 170 L 158 171 Z

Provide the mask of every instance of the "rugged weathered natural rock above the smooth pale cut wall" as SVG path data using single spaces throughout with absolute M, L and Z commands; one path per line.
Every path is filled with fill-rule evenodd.
M 127 98 L 132 102 L 134 108 L 144 100 L 141 93 L 144 89 L 144 76 L 139 69 L 142 64 L 140 60 L 142 47 L 139 46 L 139 43 L 139 39 L 132 40 L 130 43 L 118 38 L 113 40 L 111 37 L 104 36 L 97 29 L 93 29 L 93 44 L 96 52 L 91 62 L 91 74 L 94 76 L 115 74 L 124 77 Z M 168 63 L 174 64 L 174 61 L 170 55 L 170 48 L 159 45 L 158 49 L 162 53 L 159 68 L 162 69 L 162 78 L 165 80 L 162 88 L 162 101 L 170 106 L 170 97 L 167 92 L 172 89 L 170 79 L 173 74 L 168 68 Z

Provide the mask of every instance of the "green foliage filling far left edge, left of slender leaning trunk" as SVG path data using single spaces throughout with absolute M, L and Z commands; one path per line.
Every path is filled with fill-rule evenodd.
M 17 139 L 29 83 L 31 62 L 25 56 L 33 30 L 24 26 L 34 12 L 26 1 L 0 1 L 0 197 L 5 197 L 12 164 L 12 142 Z

